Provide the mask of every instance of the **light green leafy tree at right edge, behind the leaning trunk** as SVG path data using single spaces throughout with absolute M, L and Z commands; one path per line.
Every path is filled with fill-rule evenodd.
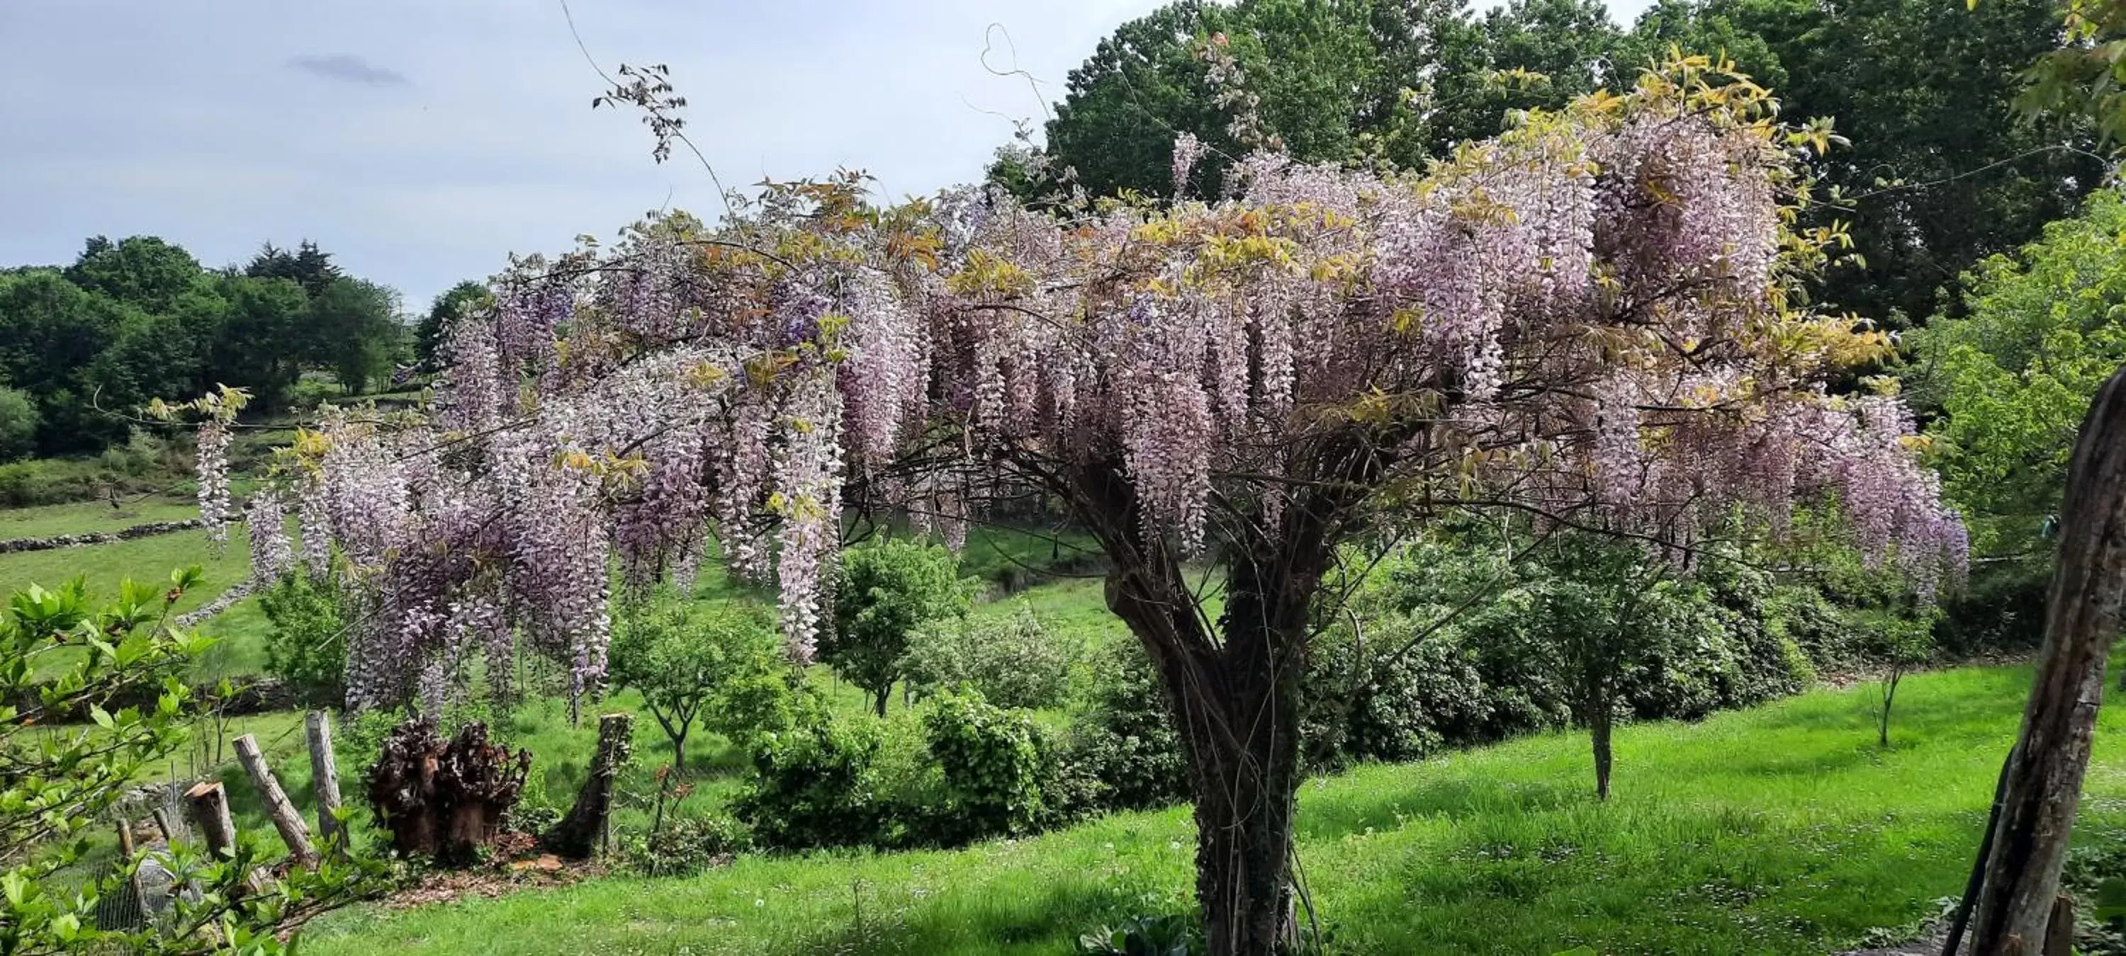
M 2081 416 L 2126 363 L 2126 200 L 2092 193 L 2079 217 L 1979 263 L 1964 310 L 1911 336 L 1907 370 L 1945 412 L 1928 429 L 1943 493 L 1973 552 L 2045 550 Z

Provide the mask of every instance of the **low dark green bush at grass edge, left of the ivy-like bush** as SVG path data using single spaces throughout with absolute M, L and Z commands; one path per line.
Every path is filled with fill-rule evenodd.
M 872 722 L 814 720 L 763 739 L 731 812 L 776 850 L 887 843 Z

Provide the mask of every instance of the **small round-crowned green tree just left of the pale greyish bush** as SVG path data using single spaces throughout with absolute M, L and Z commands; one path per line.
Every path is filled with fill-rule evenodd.
M 963 616 L 976 586 L 959 576 L 952 552 L 935 544 L 889 537 L 846 550 L 833 588 L 833 629 L 821 635 L 819 659 L 870 693 L 884 716 L 910 635 L 931 620 Z

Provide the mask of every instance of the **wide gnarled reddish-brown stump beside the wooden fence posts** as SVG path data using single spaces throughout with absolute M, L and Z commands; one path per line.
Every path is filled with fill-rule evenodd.
M 466 865 L 502 831 L 529 773 L 532 752 L 489 744 L 483 722 L 444 741 L 434 720 L 415 718 L 385 739 L 368 792 L 393 850 Z

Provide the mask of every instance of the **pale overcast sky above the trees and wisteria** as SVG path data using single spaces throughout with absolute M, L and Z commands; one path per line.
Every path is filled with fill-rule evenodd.
M 725 185 L 863 168 L 891 195 L 980 174 L 1042 98 L 1157 0 L 572 0 L 608 70 L 672 66 Z M 1637 8 L 1641 2 L 1629 2 Z M 1016 66 L 984 70 L 1003 23 Z M 995 68 L 1012 68 L 991 34 Z M 557 0 L 0 0 L 0 266 L 153 234 L 206 266 L 302 238 L 410 310 L 506 253 L 663 206 L 721 210 L 648 159 Z

